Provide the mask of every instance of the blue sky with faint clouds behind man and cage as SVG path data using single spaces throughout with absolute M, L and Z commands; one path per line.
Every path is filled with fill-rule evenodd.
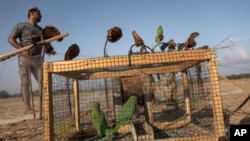
M 27 21 L 27 9 L 38 7 L 40 26 L 56 26 L 69 36 L 53 42 L 57 54 L 45 61 L 60 61 L 71 44 L 77 43 L 76 59 L 103 56 L 107 30 L 122 29 L 123 36 L 108 44 L 109 56 L 127 55 L 134 44 L 131 32 L 152 46 L 156 29 L 162 25 L 164 40 L 184 42 L 196 31 L 197 46 L 217 47 L 218 71 L 224 75 L 250 73 L 249 0 L 1 0 L 0 54 L 14 50 L 7 42 L 13 27 Z M 230 47 L 228 47 L 230 46 Z M 223 48 L 227 47 L 227 48 Z M 36 87 L 36 83 L 33 84 Z M 0 91 L 20 92 L 17 57 L 0 62 Z

